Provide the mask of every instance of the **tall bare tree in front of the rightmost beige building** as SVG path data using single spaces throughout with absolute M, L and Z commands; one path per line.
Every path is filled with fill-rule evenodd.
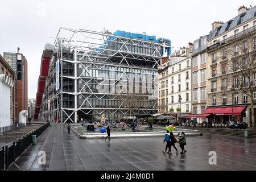
M 228 73 L 228 82 L 232 88 L 241 90 L 250 97 L 251 118 L 255 129 L 254 94 L 256 92 L 256 38 L 237 40 L 227 48 L 222 49 L 222 60 L 228 60 L 222 73 Z M 225 70 L 226 69 L 226 70 Z

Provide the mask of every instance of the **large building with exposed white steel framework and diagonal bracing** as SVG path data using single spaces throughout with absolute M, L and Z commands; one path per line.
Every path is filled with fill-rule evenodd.
M 39 118 L 76 123 L 101 114 L 112 119 L 155 114 L 157 67 L 163 53 L 170 52 L 171 42 L 136 35 L 60 28 Z

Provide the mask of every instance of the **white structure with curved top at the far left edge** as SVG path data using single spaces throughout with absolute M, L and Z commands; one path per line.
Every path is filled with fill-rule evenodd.
M 11 88 L 14 81 L 6 74 L 0 75 L 0 127 L 11 125 Z

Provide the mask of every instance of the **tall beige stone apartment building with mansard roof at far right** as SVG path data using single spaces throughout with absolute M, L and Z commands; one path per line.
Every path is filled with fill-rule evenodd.
M 247 122 L 249 126 L 252 126 L 250 110 L 248 109 L 250 97 L 238 87 L 239 80 L 234 77 L 237 69 L 231 69 L 230 65 L 234 64 L 234 67 L 239 67 L 234 60 L 245 61 L 246 63 L 246 53 L 243 52 L 243 49 L 249 49 L 248 53 L 253 55 L 251 59 L 256 60 L 254 55 L 256 51 L 256 6 L 250 9 L 241 6 L 238 9 L 238 15 L 228 22 L 214 22 L 208 42 L 208 108 L 223 107 L 222 112 L 224 112 L 225 109 L 230 110 L 232 106 L 238 106 L 233 107 L 233 113 L 217 113 L 222 114 L 218 119 L 220 121 L 232 121 L 233 114 L 235 120 Z M 256 81 L 256 73 L 253 73 L 252 77 Z M 246 78 L 244 81 L 248 85 Z M 253 95 L 256 98 L 256 93 Z

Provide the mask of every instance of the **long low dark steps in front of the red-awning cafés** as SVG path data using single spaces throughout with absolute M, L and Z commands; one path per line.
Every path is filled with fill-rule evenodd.
M 256 138 L 256 130 L 251 129 L 221 129 L 221 128 L 205 128 L 205 127 L 179 127 L 180 129 L 198 130 L 201 133 L 230 135 L 237 137 L 245 137 L 245 131 L 248 131 L 248 138 Z

